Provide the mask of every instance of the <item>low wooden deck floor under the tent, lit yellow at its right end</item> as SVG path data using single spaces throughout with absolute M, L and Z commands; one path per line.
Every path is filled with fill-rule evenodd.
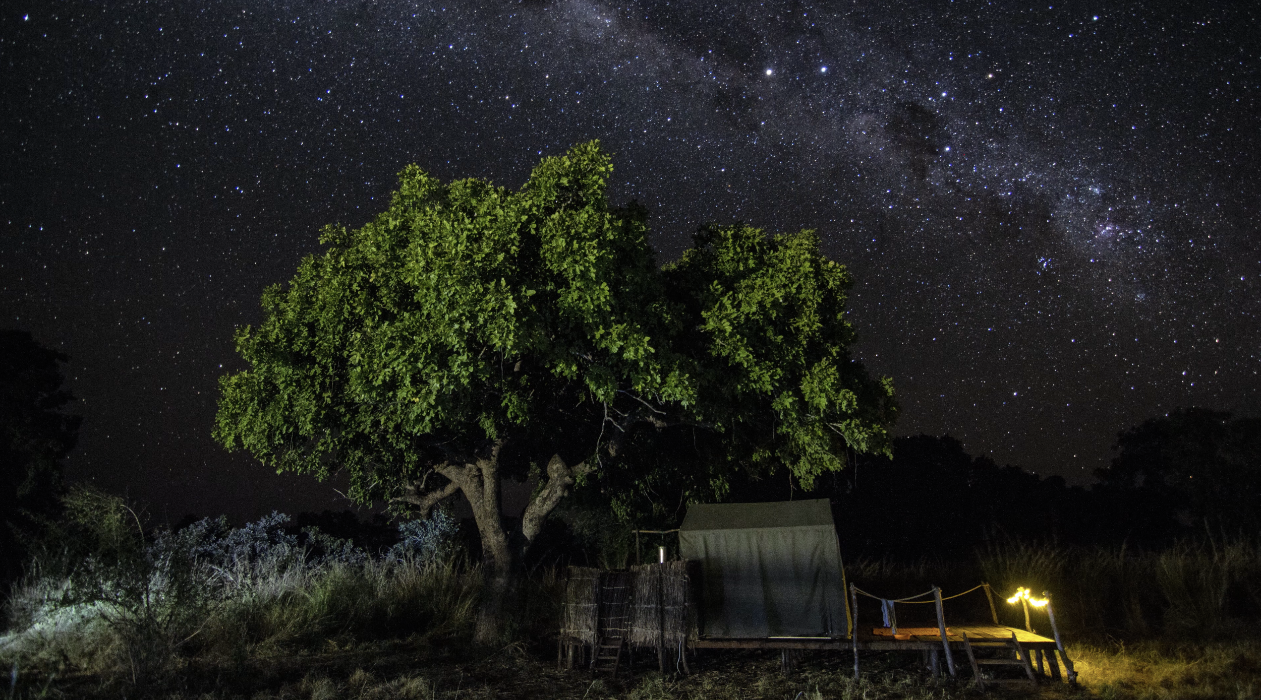
M 915 629 L 917 632 L 923 628 Z M 1016 640 L 1026 648 L 1054 648 L 1055 640 L 1034 635 L 1015 627 L 999 624 L 950 624 L 947 626 L 947 641 L 951 648 L 963 648 L 963 635 L 973 645 L 986 642 L 1005 642 L 1011 640 L 1011 633 L 1016 633 Z M 941 648 L 942 638 L 938 632 L 931 635 L 910 635 L 907 640 L 895 640 L 889 635 L 875 635 L 868 627 L 866 632 L 859 629 L 859 648 L 876 651 Z M 764 638 L 715 638 L 704 637 L 691 642 L 697 648 L 817 648 L 817 650 L 847 650 L 854 648 L 854 642 L 845 637 L 764 637 Z

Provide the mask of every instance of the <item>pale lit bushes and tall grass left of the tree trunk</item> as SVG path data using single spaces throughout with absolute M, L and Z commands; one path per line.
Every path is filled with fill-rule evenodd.
M 74 666 L 144 685 L 184 651 L 241 657 L 247 647 L 328 637 L 460 635 L 480 575 L 456 562 L 458 526 L 438 511 L 405 522 L 373 560 L 272 512 L 243 528 L 206 519 L 146 533 L 122 499 L 76 490 L 9 601 L 0 657 Z

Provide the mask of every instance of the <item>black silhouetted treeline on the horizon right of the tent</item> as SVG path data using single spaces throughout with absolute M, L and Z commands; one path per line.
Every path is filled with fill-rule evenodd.
M 952 555 L 1000 541 L 1163 546 L 1255 536 L 1261 528 L 1261 421 L 1192 408 L 1120 433 L 1098 482 L 1069 486 L 973 457 L 944 436 L 898 438 L 892 460 L 861 456 L 812 491 L 774 477 L 735 500 L 831 499 L 842 546 L 866 556 Z

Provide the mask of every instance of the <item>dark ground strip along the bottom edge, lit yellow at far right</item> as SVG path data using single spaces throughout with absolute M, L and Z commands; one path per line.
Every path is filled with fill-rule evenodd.
M 550 651 L 550 653 L 549 653 Z M 805 652 L 789 675 L 778 652 L 705 650 L 691 675 L 657 671 L 641 653 L 633 672 L 593 676 L 559 670 L 555 647 L 498 650 L 387 642 L 338 646 L 304 653 L 255 653 L 248 660 L 197 660 L 148 687 L 88 676 L 25 677 L 10 696 L 164 697 L 179 700 L 962 700 L 1031 697 L 1068 700 L 1247 700 L 1261 696 L 1256 645 L 1219 647 L 1092 648 L 1074 652 L 1079 686 L 1045 682 L 981 691 L 971 670 L 934 680 L 915 653 L 864 652 L 852 679 L 849 652 Z M 1256 690 L 1255 690 L 1256 689 Z

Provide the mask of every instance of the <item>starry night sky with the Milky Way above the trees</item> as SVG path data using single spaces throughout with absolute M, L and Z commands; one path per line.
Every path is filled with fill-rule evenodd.
M 1148 417 L 1261 409 L 1258 11 L 1154 5 L 18 0 L 0 325 L 72 358 L 71 477 L 342 509 L 211 439 L 233 326 L 404 165 L 517 188 L 600 138 L 661 262 L 817 229 L 899 434 L 1086 483 Z

